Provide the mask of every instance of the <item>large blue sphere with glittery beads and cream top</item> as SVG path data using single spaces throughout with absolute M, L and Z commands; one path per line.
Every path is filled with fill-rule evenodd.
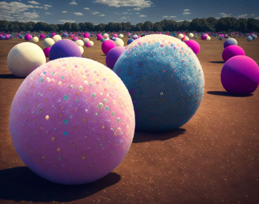
M 153 34 L 133 41 L 113 71 L 132 96 L 139 129 L 178 128 L 193 116 L 203 97 L 199 60 L 175 37 Z

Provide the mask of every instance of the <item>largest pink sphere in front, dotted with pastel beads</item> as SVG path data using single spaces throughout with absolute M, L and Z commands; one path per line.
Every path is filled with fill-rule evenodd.
M 123 159 L 134 135 L 129 92 L 112 70 L 86 58 L 40 66 L 11 107 L 10 133 L 23 162 L 63 184 L 95 181 Z

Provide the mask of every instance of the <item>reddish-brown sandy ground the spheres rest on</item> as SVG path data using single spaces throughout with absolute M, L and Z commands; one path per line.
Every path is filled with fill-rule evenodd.
M 101 42 L 91 40 L 95 45 L 84 46 L 82 57 L 105 64 Z M 229 95 L 220 81 L 224 40 L 196 40 L 205 88 L 192 119 L 169 132 L 136 131 L 116 169 L 77 186 L 37 176 L 16 153 L 9 113 L 24 78 L 11 74 L 7 55 L 24 40 L 0 41 L 0 203 L 259 203 L 259 89 L 245 97 Z M 259 39 L 237 41 L 259 64 Z M 42 41 L 37 44 L 43 48 Z

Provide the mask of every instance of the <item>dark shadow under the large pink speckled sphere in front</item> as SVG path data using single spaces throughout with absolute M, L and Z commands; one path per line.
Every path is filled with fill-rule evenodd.
M 0 199 L 33 202 L 69 202 L 85 198 L 121 179 L 116 173 L 109 173 L 97 181 L 84 185 L 62 185 L 48 181 L 28 167 L 0 170 Z

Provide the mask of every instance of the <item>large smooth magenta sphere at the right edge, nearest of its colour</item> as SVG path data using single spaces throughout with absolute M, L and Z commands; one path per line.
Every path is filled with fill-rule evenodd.
M 222 67 L 221 83 L 230 94 L 251 94 L 259 84 L 259 67 L 250 57 L 234 56 Z

